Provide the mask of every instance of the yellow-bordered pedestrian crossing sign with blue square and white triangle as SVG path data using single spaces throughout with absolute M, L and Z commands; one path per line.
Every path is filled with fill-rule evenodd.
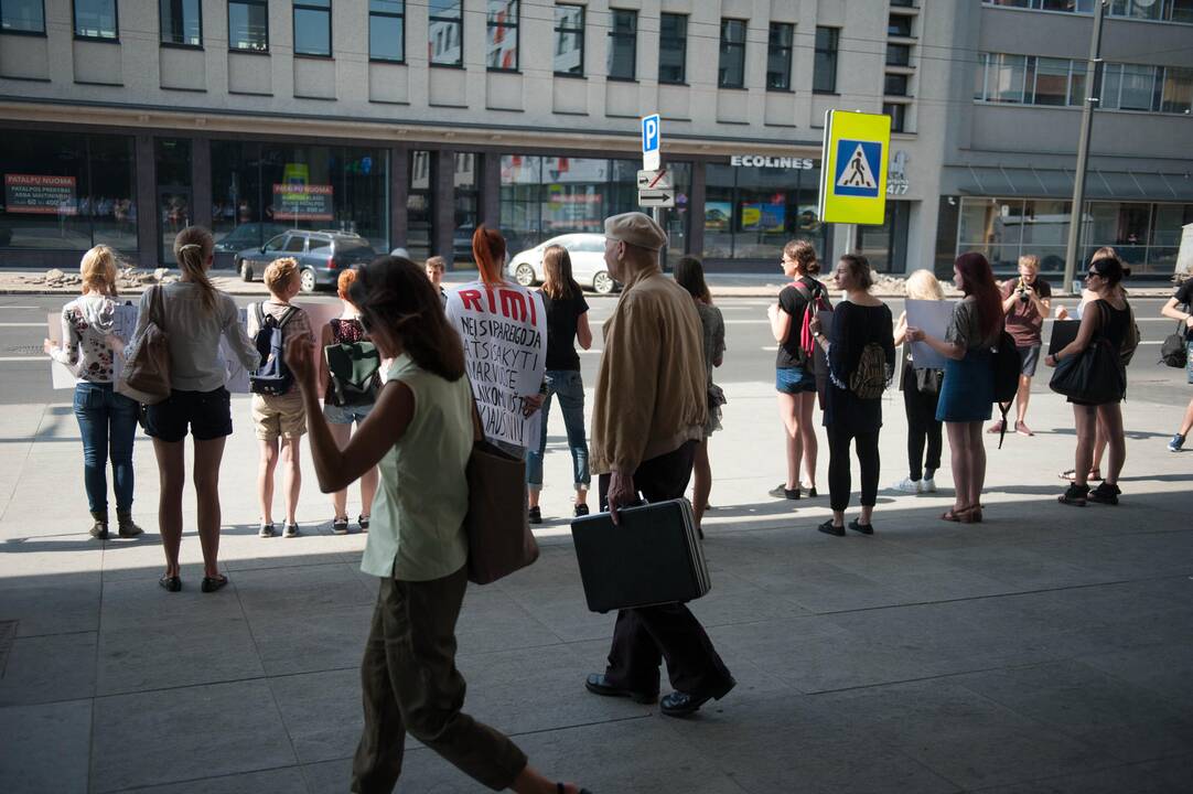
M 824 115 L 820 218 L 880 224 L 886 214 L 890 116 L 830 110 Z

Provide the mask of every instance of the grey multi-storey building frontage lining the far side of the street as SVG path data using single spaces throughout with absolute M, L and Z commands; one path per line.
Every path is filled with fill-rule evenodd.
M 669 253 L 767 271 L 792 238 L 843 250 L 816 211 L 837 107 L 895 130 L 857 247 L 1005 269 L 1063 246 L 1088 1 L 0 0 L 0 264 L 168 265 L 188 223 L 227 258 L 298 227 L 463 264 L 481 222 L 518 251 L 635 209 L 657 111 Z M 1148 270 L 1193 220 L 1193 0 L 1113 5 L 1087 241 Z

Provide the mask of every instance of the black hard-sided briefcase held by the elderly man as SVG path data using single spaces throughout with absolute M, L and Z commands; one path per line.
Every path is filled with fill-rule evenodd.
M 709 566 L 687 499 L 571 522 L 588 609 L 607 613 L 694 601 L 709 592 Z

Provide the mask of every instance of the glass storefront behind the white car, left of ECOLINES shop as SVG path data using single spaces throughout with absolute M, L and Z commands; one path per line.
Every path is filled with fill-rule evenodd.
M 605 218 L 638 209 L 637 160 L 546 158 L 509 154 L 501 158 L 501 233 L 511 254 L 561 234 L 602 234 Z M 670 162 L 675 209 L 661 210 L 670 233 L 669 258 L 687 247 L 688 191 L 692 166 Z

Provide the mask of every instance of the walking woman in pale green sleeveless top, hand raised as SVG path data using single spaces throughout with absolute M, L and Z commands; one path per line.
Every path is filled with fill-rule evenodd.
M 422 270 L 382 257 L 350 297 L 383 358 L 392 359 L 376 407 L 342 450 L 319 406 L 313 340 L 296 337 L 286 363 L 302 388 L 311 457 L 323 493 L 381 472 L 361 570 L 381 578 L 360 665 L 365 730 L 351 790 L 391 792 L 409 731 L 495 790 L 575 794 L 526 763 L 506 735 L 462 712 L 456 618 L 468 587 L 464 468 L 472 449 L 472 390 L 464 350 Z

